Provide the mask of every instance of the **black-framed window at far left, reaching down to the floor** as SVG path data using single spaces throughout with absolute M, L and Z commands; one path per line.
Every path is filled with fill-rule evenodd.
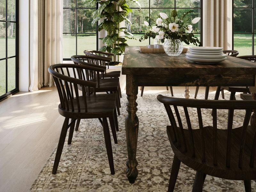
M 0 100 L 18 92 L 18 0 L 0 1 Z

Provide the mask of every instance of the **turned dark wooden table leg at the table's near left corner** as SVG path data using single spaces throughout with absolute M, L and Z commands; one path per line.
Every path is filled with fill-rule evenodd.
M 128 160 L 126 162 L 126 176 L 130 183 L 134 183 L 138 176 L 138 162 L 136 160 L 136 151 L 139 119 L 136 115 L 136 111 L 138 110 L 138 104 L 136 103 L 138 84 L 136 78 L 132 75 L 126 75 L 126 94 L 128 100 L 128 102 L 126 103 L 126 110 L 128 112 L 128 115 L 125 118 L 125 131 L 128 152 Z

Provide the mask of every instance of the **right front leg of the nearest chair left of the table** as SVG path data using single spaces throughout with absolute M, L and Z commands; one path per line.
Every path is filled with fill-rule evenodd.
M 110 167 L 110 173 L 111 175 L 114 175 L 115 168 L 114 168 L 113 152 L 112 152 L 112 145 L 111 145 L 110 133 L 108 128 L 108 121 L 106 117 L 103 118 L 103 133 L 104 133 L 104 139 L 105 139 L 105 144 L 106 144 L 106 149 L 108 154 L 108 163 Z

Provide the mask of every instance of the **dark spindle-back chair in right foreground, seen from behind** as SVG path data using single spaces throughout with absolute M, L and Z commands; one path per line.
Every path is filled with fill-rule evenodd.
M 196 170 L 193 192 L 203 190 L 206 175 L 229 180 L 244 180 L 245 191 L 251 191 L 251 180 L 256 179 L 254 161 L 256 134 L 248 124 L 252 109 L 256 108 L 255 100 L 191 100 L 162 95 L 158 95 L 157 99 L 164 103 L 171 122 L 171 126 L 167 126 L 167 134 L 174 158 L 168 192 L 174 190 L 180 162 Z M 213 116 L 211 113 L 206 113 L 209 115 L 208 119 L 212 119 L 212 125 L 208 126 L 203 122 L 202 108 L 212 109 Z M 189 117 L 191 109 L 194 113 L 197 111 L 196 127 L 191 126 Z M 227 124 L 217 124 L 217 109 L 218 111 L 228 109 Z M 237 119 L 234 110 L 244 112 L 244 109 L 246 110 L 242 119 L 244 123 L 240 127 L 233 128 L 233 118 Z M 227 129 L 219 129 L 219 126 L 227 126 Z

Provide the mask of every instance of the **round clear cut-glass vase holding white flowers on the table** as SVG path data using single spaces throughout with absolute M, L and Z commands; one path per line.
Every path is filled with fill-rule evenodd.
M 178 56 L 183 50 L 183 44 L 179 39 L 165 39 L 164 51 L 169 56 Z

